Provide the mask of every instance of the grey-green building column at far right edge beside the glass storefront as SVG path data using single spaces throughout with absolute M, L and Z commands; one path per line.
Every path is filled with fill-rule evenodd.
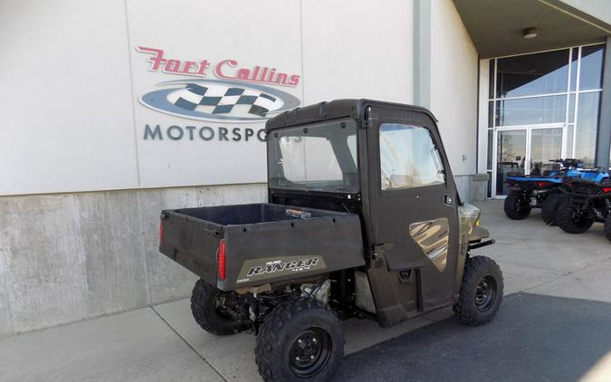
M 597 167 L 609 167 L 611 146 L 611 37 L 606 38 L 603 94 L 600 101 L 600 119 L 597 134 Z

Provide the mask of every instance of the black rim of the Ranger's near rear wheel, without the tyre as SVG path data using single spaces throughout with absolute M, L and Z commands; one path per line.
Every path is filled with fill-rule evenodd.
M 292 342 L 289 365 L 299 377 L 311 377 L 327 365 L 331 355 L 331 338 L 321 328 L 303 330 Z

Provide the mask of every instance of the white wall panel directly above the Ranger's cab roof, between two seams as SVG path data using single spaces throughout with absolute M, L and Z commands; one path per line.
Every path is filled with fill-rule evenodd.
M 304 0 L 303 103 L 369 98 L 412 103 L 412 0 Z

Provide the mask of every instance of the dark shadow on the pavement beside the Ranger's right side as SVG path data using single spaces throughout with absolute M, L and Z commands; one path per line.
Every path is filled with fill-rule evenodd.
M 488 325 L 450 318 L 354 353 L 335 380 L 575 381 L 610 351 L 611 303 L 519 293 Z

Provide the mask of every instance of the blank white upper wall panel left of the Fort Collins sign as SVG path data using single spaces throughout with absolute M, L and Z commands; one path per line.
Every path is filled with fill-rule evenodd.
M 5 1 L 0 195 L 138 187 L 125 5 Z

